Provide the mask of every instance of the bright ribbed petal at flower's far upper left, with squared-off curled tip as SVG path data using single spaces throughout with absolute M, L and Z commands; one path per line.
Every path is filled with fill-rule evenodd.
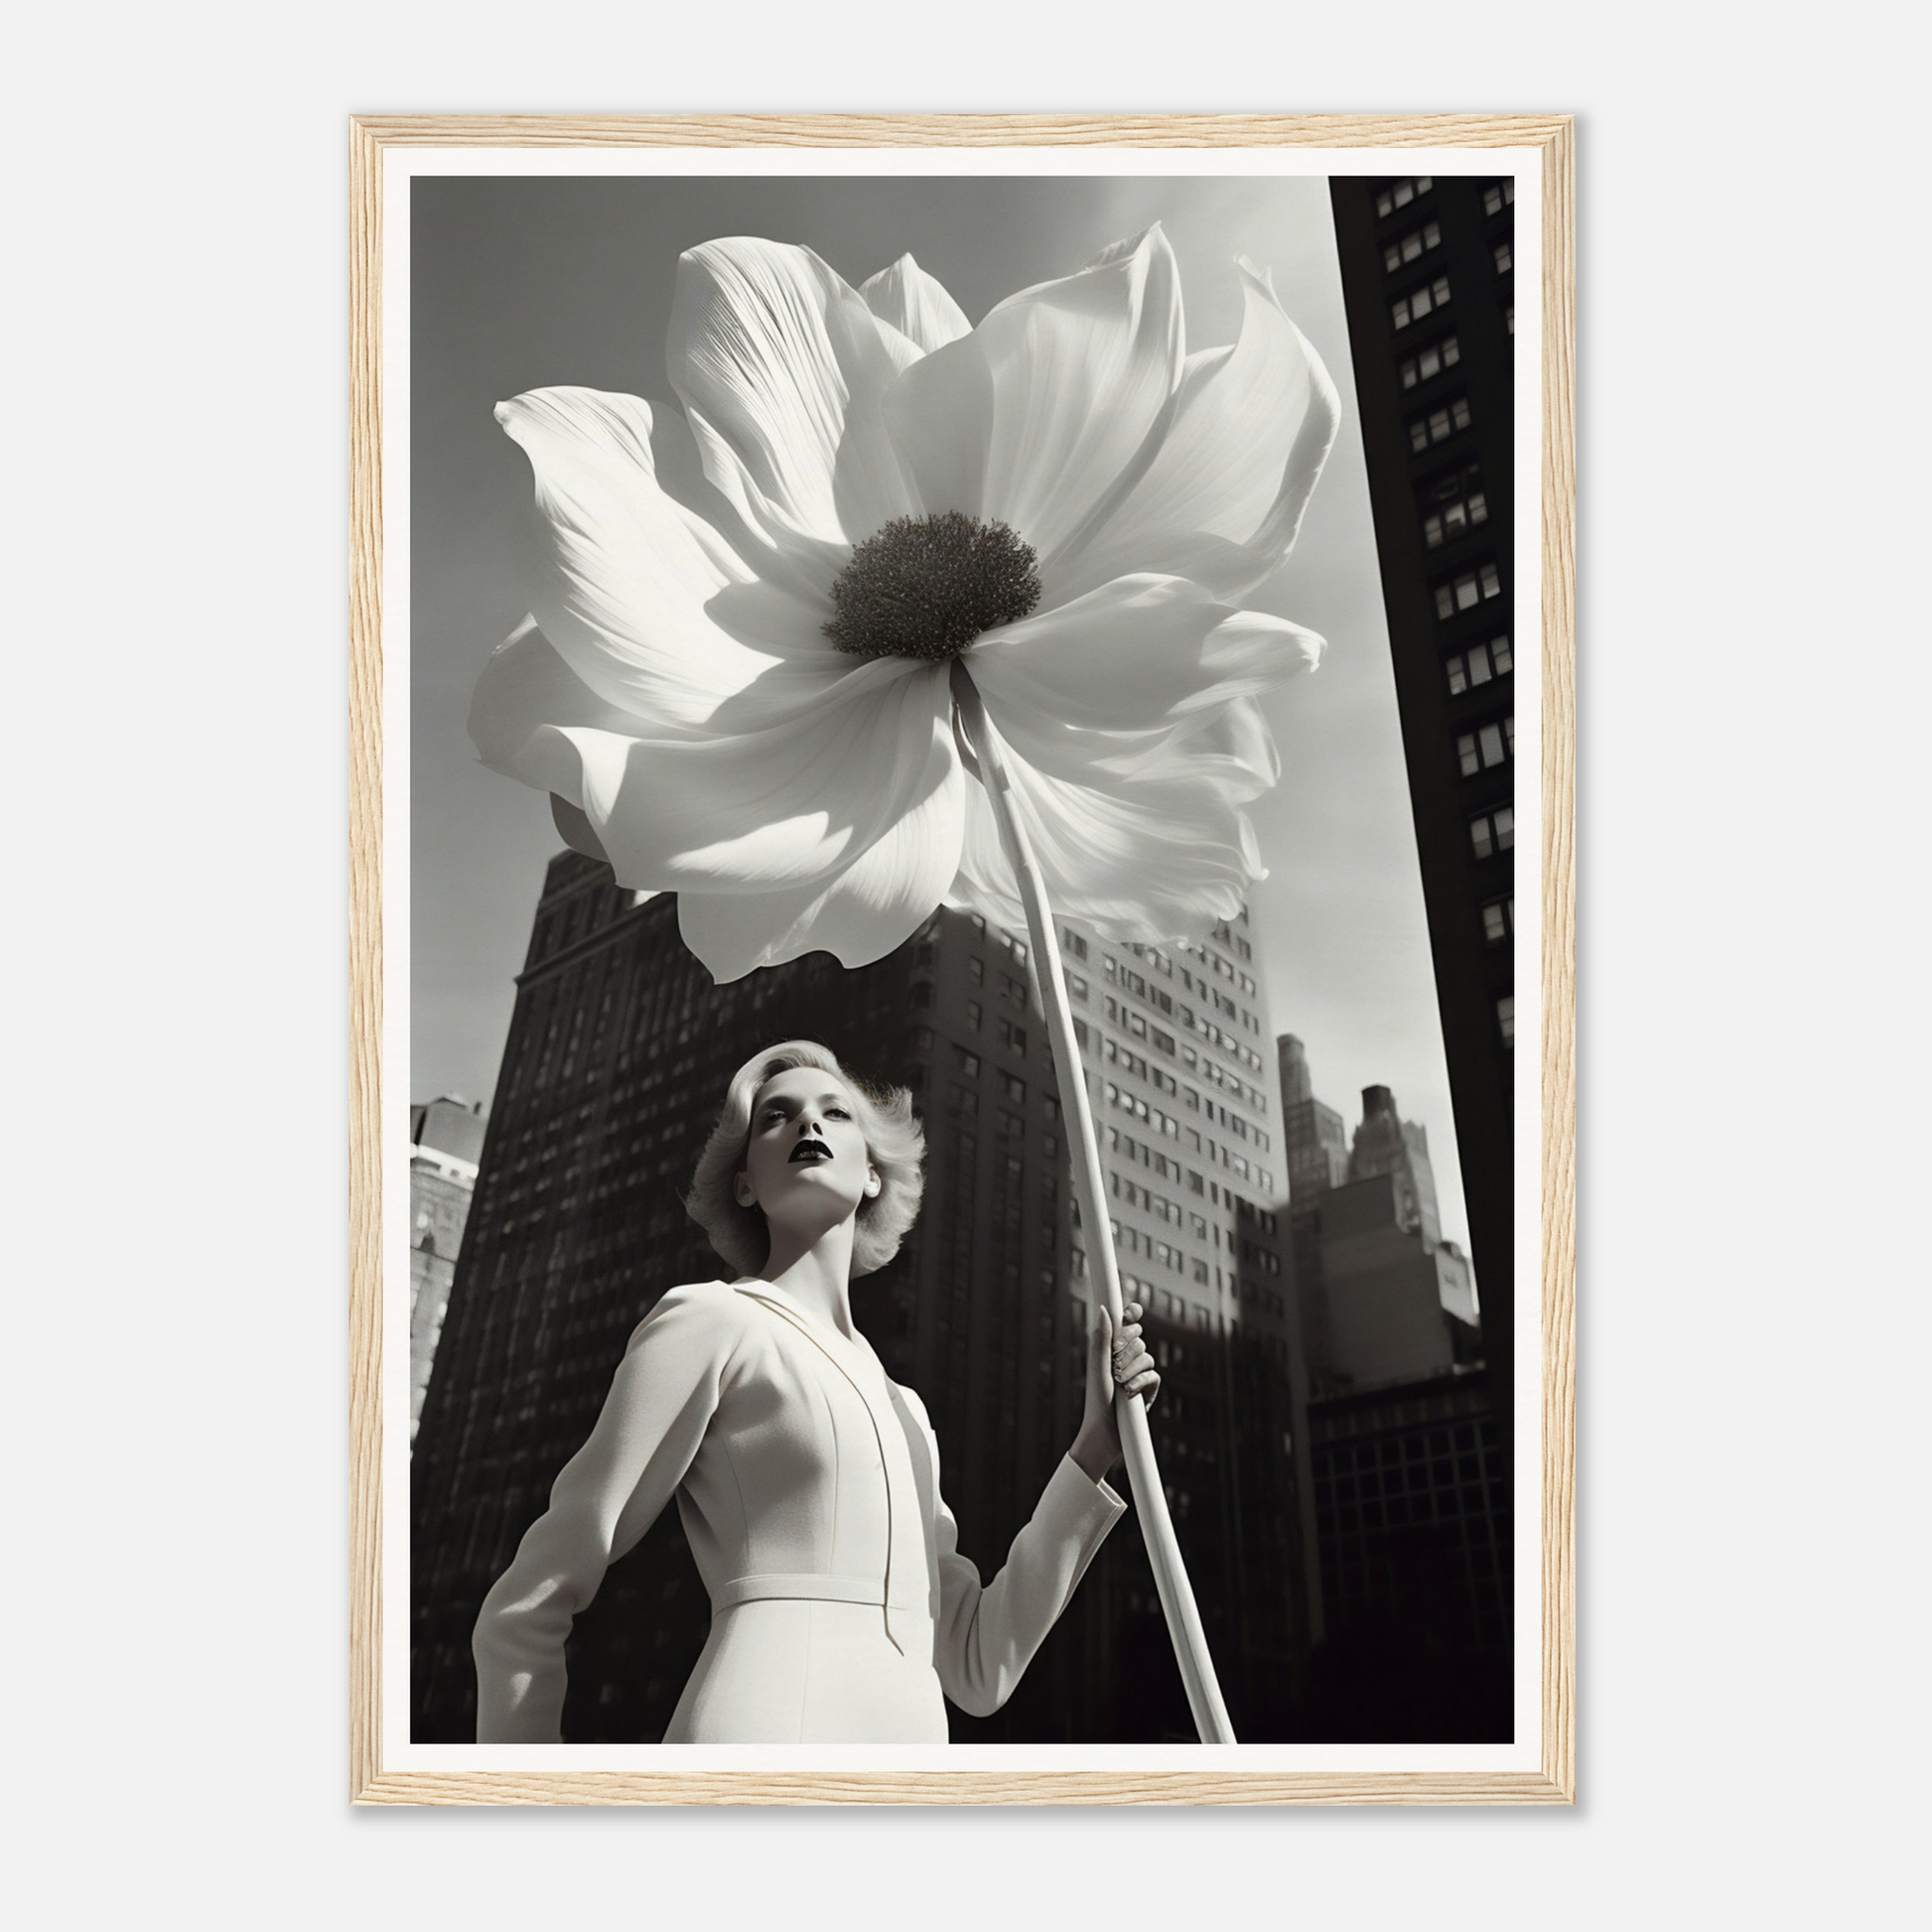
M 651 406 L 593 388 L 541 388 L 497 406 L 529 456 L 543 566 L 531 611 L 607 703 L 661 730 L 701 724 L 773 661 L 705 612 L 750 572 L 659 489 Z

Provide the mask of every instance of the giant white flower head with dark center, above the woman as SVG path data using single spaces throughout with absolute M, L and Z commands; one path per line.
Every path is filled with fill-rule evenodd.
M 1321 651 L 1240 599 L 1337 423 L 1267 276 L 1238 274 L 1238 340 L 1188 355 L 1159 228 L 978 328 L 910 255 L 854 290 L 810 249 L 692 249 L 682 412 L 497 410 L 543 564 L 477 686 L 485 763 L 622 885 L 676 893 L 719 980 L 862 966 L 949 896 L 1020 923 L 960 663 L 1059 912 L 1142 941 L 1233 916 L 1262 869 L 1240 808 L 1279 775 L 1256 694 Z

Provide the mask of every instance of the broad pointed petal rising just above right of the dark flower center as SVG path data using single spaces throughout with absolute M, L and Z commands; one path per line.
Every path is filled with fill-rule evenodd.
M 887 398 L 927 512 L 1010 524 L 1051 574 L 1180 379 L 1180 284 L 1159 228 L 1009 298 Z

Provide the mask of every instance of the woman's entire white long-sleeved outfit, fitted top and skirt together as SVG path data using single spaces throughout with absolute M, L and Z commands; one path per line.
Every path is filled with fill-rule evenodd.
M 475 1627 L 477 1743 L 558 1743 L 564 1638 L 676 1493 L 711 1638 L 667 1743 L 945 1743 L 1012 1694 L 1124 1503 L 1063 1459 L 989 1582 L 918 1395 L 767 1281 L 668 1291 Z

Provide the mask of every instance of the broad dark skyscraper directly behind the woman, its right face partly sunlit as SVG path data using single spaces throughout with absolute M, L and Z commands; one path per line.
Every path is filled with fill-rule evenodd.
M 1171 1507 L 1225 1689 L 1277 1714 L 1306 1648 L 1308 1515 L 1281 1130 L 1244 922 L 1186 949 L 1068 929 L 1068 985 L 1126 1293 L 1167 1378 Z M 413 1723 L 471 1731 L 469 1627 L 624 1343 L 672 1283 L 724 1269 L 682 1208 L 724 1084 L 763 1045 L 821 1039 L 912 1088 L 927 1192 L 898 1258 L 854 1285 L 887 1370 L 920 1389 L 960 1548 L 991 1573 L 1065 1453 L 1092 1283 L 1024 939 L 941 910 L 854 972 L 813 954 L 713 985 L 670 898 L 551 864 L 518 981 L 444 1341 L 413 1457 Z M 709 1605 L 670 1513 L 578 1619 L 566 1737 L 653 1739 Z M 1252 1729 L 1252 1725 L 1250 1725 Z M 1117 1534 L 1003 1714 L 954 1735 L 1192 1735 L 1138 1538 Z

